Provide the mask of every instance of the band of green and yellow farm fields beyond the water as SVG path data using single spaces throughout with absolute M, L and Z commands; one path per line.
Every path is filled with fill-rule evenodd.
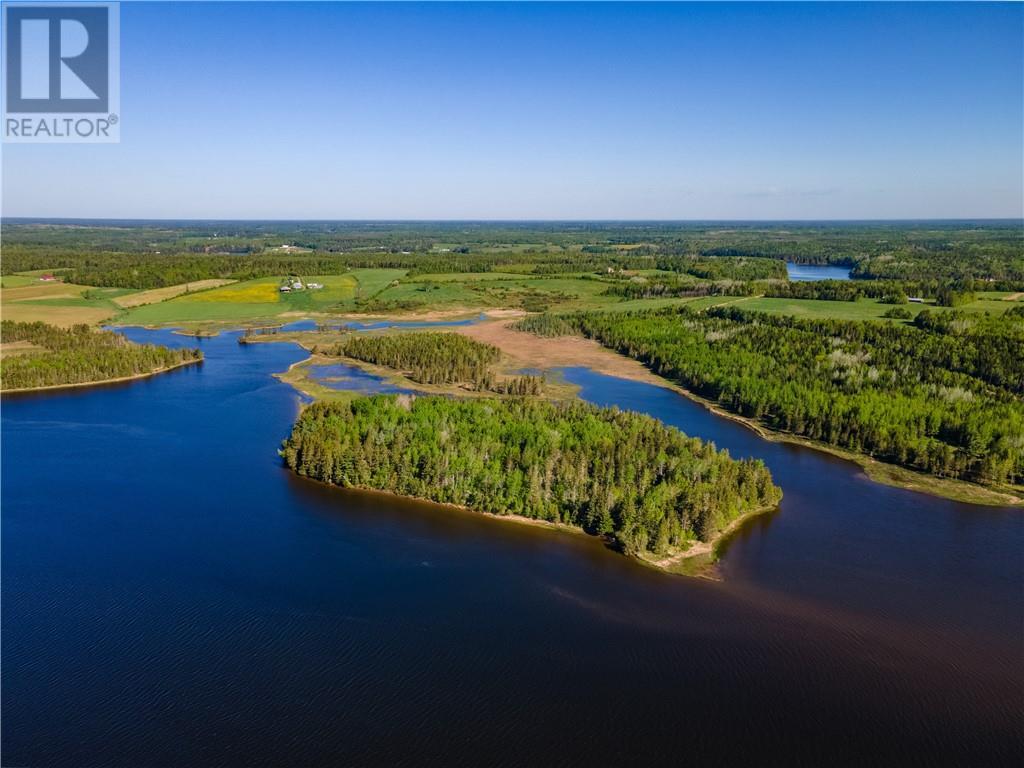
M 510 264 L 500 271 L 410 274 L 402 268 L 355 268 L 342 274 L 301 275 L 319 283 L 319 290 L 283 293 L 284 275 L 230 281 L 209 279 L 191 283 L 133 290 L 94 288 L 73 283 L 41 282 L 45 269 L 4 275 L 0 283 L 3 316 L 12 321 L 43 321 L 58 326 L 98 325 L 203 325 L 286 322 L 303 314 L 364 313 L 387 315 L 403 312 L 458 311 L 510 308 L 525 311 L 634 311 L 688 305 L 696 309 L 738 305 L 744 309 L 807 318 L 885 321 L 892 308 L 876 299 L 823 301 L 767 298 L 763 296 L 705 296 L 627 299 L 608 295 L 609 281 L 594 272 L 552 275 L 527 273 Z M 632 273 L 632 272 L 630 272 Z M 658 269 L 637 274 L 658 276 Z M 59 275 L 58 275 L 59 276 Z M 1024 301 L 1024 295 L 982 292 L 965 312 L 1001 314 Z M 905 304 L 911 313 L 924 308 L 950 311 L 932 301 Z

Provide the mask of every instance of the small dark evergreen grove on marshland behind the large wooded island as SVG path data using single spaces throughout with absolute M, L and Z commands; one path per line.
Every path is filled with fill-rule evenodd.
M 490 367 L 501 358 L 497 347 L 447 333 L 355 335 L 324 351 L 387 366 L 423 384 L 468 384 L 475 389 L 494 387 Z

